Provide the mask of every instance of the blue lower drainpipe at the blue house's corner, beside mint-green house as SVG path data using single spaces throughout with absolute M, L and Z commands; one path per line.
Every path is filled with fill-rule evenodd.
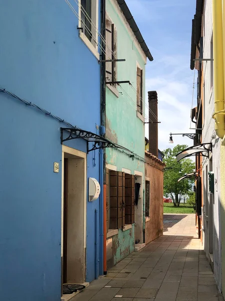
M 99 273 L 100 275 L 103 275 L 103 239 L 104 239 L 104 226 L 103 226 L 103 220 L 104 220 L 104 199 L 103 199 L 103 158 L 104 158 L 104 152 L 103 149 L 99 149 L 99 184 L 101 187 L 100 195 L 99 195 Z

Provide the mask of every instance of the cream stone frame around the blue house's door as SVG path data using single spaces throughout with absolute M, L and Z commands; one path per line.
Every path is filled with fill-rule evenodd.
M 75 148 L 62 145 L 62 159 L 61 159 L 61 257 L 63 257 L 63 209 L 64 209 L 64 154 L 72 155 L 76 158 L 84 160 L 84 185 L 83 185 L 83 282 L 85 282 L 85 250 L 86 250 L 86 153 L 81 152 Z M 61 273 L 62 275 L 62 273 Z

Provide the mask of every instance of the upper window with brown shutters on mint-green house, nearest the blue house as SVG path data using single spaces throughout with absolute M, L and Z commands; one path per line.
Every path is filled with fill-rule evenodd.
M 117 31 L 108 14 L 105 15 L 105 60 L 115 60 L 117 55 Z M 105 63 L 106 81 L 115 82 L 117 78 L 116 62 Z M 115 86 L 115 84 L 113 85 Z

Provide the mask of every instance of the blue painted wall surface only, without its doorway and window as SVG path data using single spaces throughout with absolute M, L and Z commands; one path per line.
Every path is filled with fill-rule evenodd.
M 62 0 L 2 2 L 0 87 L 96 132 L 100 69 L 77 25 Z M 60 126 L 0 93 L 0 295 L 7 301 L 60 300 Z M 86 152 L 82 139 L 67 145 Z M 98 180 L 98 152 L 95 167 L 93 156 L 87 178 Z M 58 174 L 53 162 L 60 162 Z M 94 209 L 98 200 L 87 202 L 86 281 L 94 279 Z

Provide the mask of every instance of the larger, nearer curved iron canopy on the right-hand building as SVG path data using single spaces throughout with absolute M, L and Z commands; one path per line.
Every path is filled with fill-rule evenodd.
M 187 147 L 186 149 L 182 150 L 182 152 L 178 153 L 176 155 L 176 161 L 179 162 L 186 157 L 194 156 L 196 154 L 200 154 L 201 156 L 208 158 L 209 152 L 211 152 L 211 143 L 196 144 Z

